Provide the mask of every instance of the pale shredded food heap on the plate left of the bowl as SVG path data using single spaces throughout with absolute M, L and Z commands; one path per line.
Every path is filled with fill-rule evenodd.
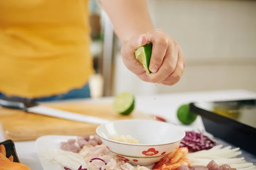
M 149 170 L 117 158 L 105 145 L 84 145 L 79 153 L 64 150 L 47 150 L 46 159 L 66 170 Z M 126 168 L 126 169 L 125 169 Z M 82 169 L 83 170 L 83 169 Z

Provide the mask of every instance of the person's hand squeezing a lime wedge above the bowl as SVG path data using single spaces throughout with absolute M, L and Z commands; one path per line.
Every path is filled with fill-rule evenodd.
M 148 42 L 153 44 L 149 63 L 151 74 L 147 74 L 143 65 L 134 57 L 134 51 Z M 125 66 L 146 82 L 175 85 L 186 65 L 180 45 L 161 29 L 131 37 L 123 43 L 121 53 Z

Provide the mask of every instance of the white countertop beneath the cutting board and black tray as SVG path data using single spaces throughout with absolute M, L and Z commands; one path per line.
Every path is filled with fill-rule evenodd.
M 136 109 L 144 113 L 163 116 L 167 121 L 180 125 L 176 117 L 177 108 L 184 103 L 195 101 L 218 101 L 225 99 L 256 98 L 256 92 L 245 90 L 205 91 L 193 93 L 165 94 L 157 96 L 136 96 Z M 111 102 L 112 98 L 84 99 L 79 102 Z M 70 101 L 69 101 L 70 102 Z M 77 101 L 72 101 L 77 102 Z M 182 125 L 181 125 L 182 126 Z M 200 117 L 190 126 L 182 126 L 186 129 L 204 129 Z M 4 141 L 0 132 L 0 141 Z M 35 142 L 15 142 L 17 155 L 20 162 L 26 164 L 31 170 L 43 170 L 36 154 Z

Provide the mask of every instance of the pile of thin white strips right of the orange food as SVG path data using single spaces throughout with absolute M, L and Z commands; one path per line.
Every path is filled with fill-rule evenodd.
M 256 170 L 256 166 L 253 163 L 247 162 L 244 157 L 237 158 L 237 156 L 241 155 L 239 149 L 232 149 L 231 146 L 223 147 L 223 145 L 217 145 L 209 150 L 188 153 L 186 158 L 191 161 L 191 166 L 201 165 L 208 167 L 209 170 L 226 170 L 225 168 L 229 168 L 227 165 L 232 170 L 234 168 L 237 170 Z M 222 166 L 223 164 L 226 165 Z

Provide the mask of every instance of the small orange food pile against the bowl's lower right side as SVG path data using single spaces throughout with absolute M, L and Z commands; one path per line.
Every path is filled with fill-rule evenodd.
M 176 148 L 167 156 L 160 159 L 153 169 L 154 170 L 177 170 L 181 165 L 190 166 L 189 159 L 185 158 L 189 150 L 186 147 Z

